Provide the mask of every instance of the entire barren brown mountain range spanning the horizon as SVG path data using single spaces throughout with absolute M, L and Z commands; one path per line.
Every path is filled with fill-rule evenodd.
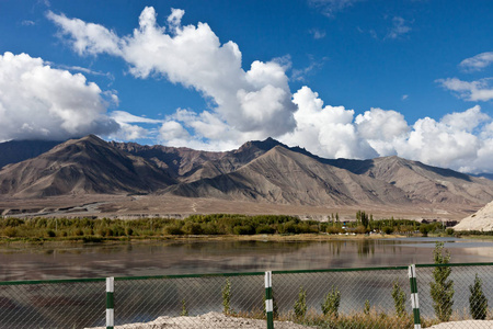
M 211 152 L 90 135 L 32 154 L 0 169 L 0 198 L 152 194 L 331 206 L 493 200 L 493 181 L 484 178 L 398 157 L 324 159 L 272 138 Z

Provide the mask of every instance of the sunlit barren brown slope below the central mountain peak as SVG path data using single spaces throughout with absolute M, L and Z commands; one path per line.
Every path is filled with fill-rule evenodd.
M 181 183 L 167 192 L 284 204 L 410 203 L 402 191 L 390 184 L 320 163 L 283 146 L 274 147 L 234 172 Z

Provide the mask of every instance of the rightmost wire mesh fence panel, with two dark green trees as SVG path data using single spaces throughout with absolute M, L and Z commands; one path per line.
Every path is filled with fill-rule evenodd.
M 493 306 L 491 266 L 422 265 L 416 269 L 416 274 L 421 316 L 425 326 L 492 319 L 489 310 Z M 493 322 L 490 322 L 491 327 L 484 327 L 485 322 L 481 321 L 462 322 L 462 326 L 493 328 Z M 447 326 L 443 324 L 440 328 Z

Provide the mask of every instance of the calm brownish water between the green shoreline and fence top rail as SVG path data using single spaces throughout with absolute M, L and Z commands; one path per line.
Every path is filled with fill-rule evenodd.
M 493 262 L 492 241 L 456 238 L 16 245 L 0 247 L 0 281 L 409 265 L 432 263 L 437 240 L 451 262 Z

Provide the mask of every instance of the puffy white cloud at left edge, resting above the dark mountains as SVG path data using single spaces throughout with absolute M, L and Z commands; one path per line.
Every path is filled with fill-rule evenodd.
M 84 76 L 26 54 L 0 55 L 0 140 L 111 134 L 119 126 L 106 109 L 104 93 Z

